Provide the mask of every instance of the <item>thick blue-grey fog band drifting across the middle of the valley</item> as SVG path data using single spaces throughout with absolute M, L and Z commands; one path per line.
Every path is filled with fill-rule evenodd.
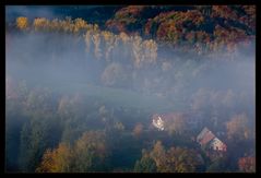
M 100 44 L 100 46 L 105 45 Z M 130 46 L 117 46 L 115 50 L 133 50 L 128 47 Z M 114 55 L 110 61 L 104 56 L 96 59 L 93 52 L 85 50 L 84 40 L 80 39 L 75 43 L 74 36 L 40 33 L 13 35 L 7 46 L 7 78 L 24 80 L 33 85 L 59 88 L 61 94 L 68 91 L 64 84 L 74 90 L 85 84 L 120 88 L 127 91 L 127 94 L 132 91 L 141 96 L 150 95 L 171 103 L 182 103 L 186 107 L 183 109 L 188 109 L 192 96 L 201 88 L 224 93 L 230 90 L 236 95 L 244 93 L 248 96 L 247 99 L 251 100 L 250 104 L 253 104 L 254 52 L 237 50 L 232 55 L 235 59 L 223 59 L 226 56 L 222 51 L 211 56 L 206 54 L 201 56 L 201 59 L 188 52 L 183 54 L 185 57 L 180 52 L 178 55 L 175 51 L 164 50 L 164 52 L 170 69 L 164 71 L 161 49 L 156 63 L 135 69 L 132 56 L 126 59 L 128 56 L 119 52 Z M 110 73 L 112 75 L 109 80 L 114 82 L 111 85 L 106 85 L 102 76 L 109 63 L 119 63 L 122 71 Z M 139 75 L 133 78 L 134 73 Z M 252 114 L 253 109 L 252 107 Z

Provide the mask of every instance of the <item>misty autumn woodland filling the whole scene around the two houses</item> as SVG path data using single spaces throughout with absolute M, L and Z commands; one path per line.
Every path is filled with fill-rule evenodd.
M 14 9 L 7 171 L 256 171 L 254 7 Z M 164 131 L 152 126 L 169 112 Z M 204 127 L 227 152 L 197 143 Z

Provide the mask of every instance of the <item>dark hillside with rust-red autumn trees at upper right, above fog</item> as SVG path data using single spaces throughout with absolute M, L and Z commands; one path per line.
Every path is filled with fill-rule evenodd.
M 194 45 L 198 50 L 228 50 L 248 46 L 256 35 L 256 8 L 251 5 L 129 5 L 106 22 L 114 32 L 139 33 L 170 46 Z M 202 47 L 201 45 L 204 44 Z

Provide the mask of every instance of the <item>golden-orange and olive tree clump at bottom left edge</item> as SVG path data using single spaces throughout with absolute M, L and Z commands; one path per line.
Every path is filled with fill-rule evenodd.
M 108 151 L 104 132 L 87 131 L 72 146 L 60 143 L 47 150 L 37 171 L 86 173 L 105 171 L 108 168 Z

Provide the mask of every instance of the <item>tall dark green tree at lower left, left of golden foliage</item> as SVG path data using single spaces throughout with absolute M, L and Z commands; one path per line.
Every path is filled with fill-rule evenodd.
M 23 171 L 35 171 L 45 150 L 55 146 L 61 134 L 55 118 L 36 117 L 24 123 L 21 131 L 19 162 Z

